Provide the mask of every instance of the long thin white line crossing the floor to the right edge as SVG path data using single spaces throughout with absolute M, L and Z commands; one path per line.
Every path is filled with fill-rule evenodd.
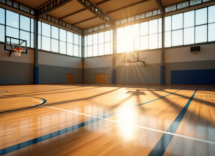
M 111 119 L 106 119 L 106 118 L 100 118 L 100 117 L 97 117 L 97 116 L 88 115 L 88 114 L 84 114 L 84 113 L 78 113 L 78 112 L 74 112 L 74 111 L 70 111 L 70 110 L 66 110 L 66 109 L 61 109 L 61 108 L 56 108 L 56 107 L 50 107 L 50 106 L 40 106 L 40 107 L 48 107 L 48 108 L 52 108 L 52 109 L 62 110 L 62 111 L 71 112 L 71 113 L 75 113 L 75 114 L 80 114 L 80 115 L 84 115 L 84 116 L 89 116 L 89 117 L 93 117 L 93 118 L 98 118 L 98 119 L 102 119 L 102 120 L 106 120 L 106 121 L 120 123 L 119 121 L 116 121 L 116 120 L 111 120 Z M 191 139 L 191 140 L 200 141 L 200 142 L 204 142 L 204 143 L 215 145 L 215 142 L 213 142 L 213 141 L 208 141 L 208 140 L 204 140 L 204 139 L 193 138 L 193 137 L 189 137 L 189 136 L 185 136 L 185 135 L 175 134 L 175 133 L 166 132 L 166 131 L 162 131 L 162 130 L 157 130 L 157 129 L 153 129 L 153 128 L 148 128 L 148 127 L 143 127 L 143 126 L 139 126 L 139 125 L 131 125 L 131 126 L 142 128 L 142 129 L 146 129 L 146 130 L 150 130 L 150 131 L 154 131 L 154 132 L 169 134 L 169 135 L 173 135 L 173 136 L 178 136 L 178 137 L 182 137 L 182 138 L 186 138 L 186 139 Z

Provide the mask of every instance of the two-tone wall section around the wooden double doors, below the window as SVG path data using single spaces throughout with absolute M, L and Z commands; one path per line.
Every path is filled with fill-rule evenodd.
M 111 83 L 112 55 L 84 59 L 84 83 L 95 83 L 95 74 L 108 74 Z

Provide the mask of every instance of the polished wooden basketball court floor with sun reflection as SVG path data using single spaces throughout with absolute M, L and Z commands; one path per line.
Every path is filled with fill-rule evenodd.
M 0 155 L 215 155 L 213 87 L 0 86 L 0 112 Z

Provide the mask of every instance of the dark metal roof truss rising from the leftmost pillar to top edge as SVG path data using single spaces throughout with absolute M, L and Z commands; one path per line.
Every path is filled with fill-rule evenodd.
M 41 17 L 49 12 L 58 9 L 59 7 L 69 3 L 72 0 L 53 0 L 36 10 L 36 15 Z

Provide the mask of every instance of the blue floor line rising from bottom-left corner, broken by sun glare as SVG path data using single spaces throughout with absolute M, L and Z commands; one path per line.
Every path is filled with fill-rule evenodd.
M 151 101 L 148 101 L 148 102 L 145 102 L 145 103 L 138 104 L 138 105 L 136 105 L 136 107 L 137 107 L 137 106 L 144 105 L 144 104 L 148 104 L 148 103 L 150 103 L 150 102 L 157 101 L 157 100 L 162 99 L 162 98 L 165 98 L 165 97 L 167 97 L 167 96 L 169 96 L 169 95 L 171 95 L 171 94 L 174 94 L 174 93 L 176 93 L 176 92 L 178 92 L 178 91 L 180 91 L 180 89 L 177 90 L 177 91 L 175 91 L 175 92 L 173 92 L 173 93 L 170 93 L 170 94 L 167 94 L 167 95 L 165 95 L 165 96 L 159 97 L 159 98 L 157 98 L 157 99 L 154 99 L 154 100 L 151 100 Z M 105 118 L 111 117 L 111 116 L 113 116 L 113 115 L 115 115 L 115 114 L 116 114 L 116 112 L 115 112 L 115 113 L 111 113 L 111 114 L 109 114 L 109 115 L 105 115 L 105 116 L 103 116 L 103 118 L 105 119 Z M 28 141 L 25 141 L 25 142 L 22 142 L 22 143 L 19 143 L 19 144 L 10 146 L 10 147 L 6 147 L 6 148 L 0 150 L 0 155 L 8 154 L 8 153 L 10 153 L 10 152 L 14 152 L 14 151 L 16 151 L 16 150 L 19 150 L 19 149 L 22 149 L 22 148 L 31 146 L 31 145 L 33 145 L 33 144 L 36 144 L 36 143 L 39 143 L 39 142 L 42 142 L 42 141 L 51 139 L 51 138 L 53 138 L 53 137 L 56 137 L 56 136 L 65 134 L 65 133 L 67 133 L 67 132 L 71 132 L 71 131 L 76 130 L 76 129 L 78 129 L 78 128 L 81 128 L 81 127 L 84 127 L 84 126 L 86 126 L 86 125 L 89 125 L 89 124 L 91 124 L 91 123 L 97 122 L 97 121 L 99 121 L 99 120 L 102 120 L 102 118 L 95 118 L 95 119 L 92 119 L 92 120 L 89 120 L 89 121 L 86 121 L 86 122 L 82 122 L 82 123 L 80 123 L 80 124 L 77 124 L 77 125 L 74 125 L 74 126 L 71 126 L 71 127 L 68 127 L 68 128 L 62 129 L 62 130 L 59 130 L 59 131 L 56 131 L 56 132 L 52 132 L 52 133 L 43 135 L 43 136 L 38 137 L 38 138 L 35 138 L 35 139 L 31 139 L 31 140 L 28 140 Z

